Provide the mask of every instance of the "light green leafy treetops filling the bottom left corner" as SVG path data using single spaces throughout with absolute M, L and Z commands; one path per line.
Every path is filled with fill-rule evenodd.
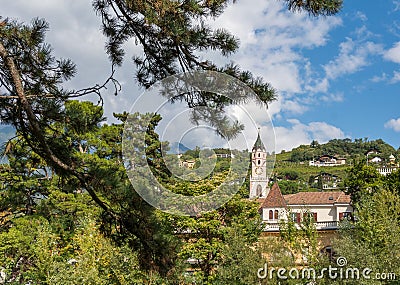
M 137 255 L 104 237 L 90 217 L 80 218 L 67 239 L 52 223 L 19 218 L 0 234 L 8 284 L 139 284 L 155 282 Z

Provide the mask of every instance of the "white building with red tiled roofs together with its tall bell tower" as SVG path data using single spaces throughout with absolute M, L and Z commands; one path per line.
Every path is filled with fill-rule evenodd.
M 311 215 L 317 230 L 337 230 L 343 219 L 352 219 L 350 196 L 342 191 L 299 192 L 282 195 L 279 185 L 271 189 L 266 169 L 267 152 L 260 134 L 251 152 L 249 198 L 260 202 L 264 231 L 279 232 L 281 221 L 291 219 L 300 224 L 305 215 Z

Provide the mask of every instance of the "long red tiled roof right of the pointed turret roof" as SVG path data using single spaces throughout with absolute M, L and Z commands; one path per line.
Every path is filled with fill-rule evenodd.
M 299 192 L 284 195 L 288 205 L 331 205 L 335 203 L 350 203 L 350 196 L 344 192 Z

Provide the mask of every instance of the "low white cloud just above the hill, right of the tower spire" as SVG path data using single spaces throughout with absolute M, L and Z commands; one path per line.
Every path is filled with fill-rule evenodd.
M 310 144 L 312 140 L 325 143 L 331 139 L 345 138 L 344 132 L 335 126 L 326 122 L 311 122 L 303 124 L 297 119 L 287 120 L 290 127 L 275 127 L 276 133 L 276 149 L 291 150 L 301 144 Z

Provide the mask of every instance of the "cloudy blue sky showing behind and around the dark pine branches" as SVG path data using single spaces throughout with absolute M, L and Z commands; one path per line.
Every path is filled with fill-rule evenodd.
M 2 16 L 47 19 L 47 40 L 56 55 L 77 63 L 78 75 L 68 83 L 72 88 L 101 82 L 109 71 L 90 2 L 0 0 Z M 203 56 L 220 63 L 234 60 L 277 89 L 279 99 L 269 106 L 269 115 L 278 152 L 313 139 L 345 137 L 382 138 L 398 148 L 399 16 L 400 1 L 392 0 L 345 0 L 338 15 L 317 19 L 289 13 L 278 0 L 239 0 L 210 24 L 235 34 L 240 49 L 227 59 L 215 52 Z M 118 71 L 123 92 L 105 95 L 108 117 L 129 109 L 143 91 L 132 79 L 129 61 L 138 48 L 131 44 L 127 49 Z

